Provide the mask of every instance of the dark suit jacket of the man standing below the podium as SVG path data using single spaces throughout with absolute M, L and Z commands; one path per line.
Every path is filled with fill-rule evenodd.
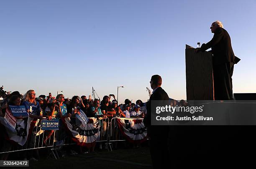
M 169 100 L 168 94 L 164 91 L 163 88 L 159 87 L 154 91 L 154 93 L 151 94 L 149 101 L 146 103 L 147 107 L 147 114 L 143 120 L 143 123 L 145 126 L 148 127 L 148 132 L 150 133 L 150 127 L 151 127 L 151 101 L 152 100 Z

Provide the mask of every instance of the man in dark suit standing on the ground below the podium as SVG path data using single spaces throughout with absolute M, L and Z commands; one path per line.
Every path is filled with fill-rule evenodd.
M 168 137 L 169 126 L 151 126 L 151 101 L 169 100 L 168 94 L 161 88 L 162 78 L 159 75 L 151 77 L 150 86 L 153 93 L 146 104 L 147 114 L 143 123 L 148 128 L 150 137 L 150 153 L 154 168 L 166 167 L 169 162 Z

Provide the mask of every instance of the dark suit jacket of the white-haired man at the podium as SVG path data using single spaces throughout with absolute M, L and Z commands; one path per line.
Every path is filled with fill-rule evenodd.
M 212 40 L 208 43 L 203 43 L 201 50 L 212 48 L 213 64 L 220 65 L 226 62 L 237 63 L 237 60 L 232 46 L 228 32 L 223 28 L 217 28 Z M 236 59 L 235 59 L 236 58 Z

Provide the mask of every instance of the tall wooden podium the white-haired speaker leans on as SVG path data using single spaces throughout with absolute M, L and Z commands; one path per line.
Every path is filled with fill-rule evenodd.
M 186 45 L 187 100 L 214 100 L 212 53 Z

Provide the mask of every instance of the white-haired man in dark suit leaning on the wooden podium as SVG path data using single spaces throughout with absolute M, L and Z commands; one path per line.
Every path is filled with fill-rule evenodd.
M 215 21 L 210 27 L 214 33 L 212 40 L 203 43 L 198 51 L 205 51 L 212 48 L 213 54 L 213 81 L 214 81 L 214 98 L 215 100 L 233 100 L 232 75 L 234 64 L 240 61 L 233 52 L 231 40 L 228 32 L 223 29 L 220 21 Z

